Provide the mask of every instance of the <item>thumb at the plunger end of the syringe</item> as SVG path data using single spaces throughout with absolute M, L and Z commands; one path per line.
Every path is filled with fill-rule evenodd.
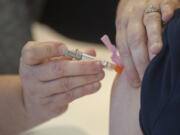
M 22 50 L 22 60 L 27 65 L 40 64 L 44 59 L 62 56 L 66 47 L 57 42 L 28 42 Z

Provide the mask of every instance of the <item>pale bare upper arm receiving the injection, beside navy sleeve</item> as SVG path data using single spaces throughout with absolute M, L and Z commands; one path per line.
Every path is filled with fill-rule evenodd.
M 133 88 L 123 72 L 112 88 L 110 135 L 142 135 L 139 126 L 140 88 Z

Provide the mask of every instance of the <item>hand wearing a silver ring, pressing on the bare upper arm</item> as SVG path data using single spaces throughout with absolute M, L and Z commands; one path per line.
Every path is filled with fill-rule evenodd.
M 144 14 L 151 5 L 161 13 Z M 179 0 L 121 0 L 116 18 L 116 42 L 131 85 L 139 87 L 144 71 L 162 48 L 162 21 L 168 22 Z

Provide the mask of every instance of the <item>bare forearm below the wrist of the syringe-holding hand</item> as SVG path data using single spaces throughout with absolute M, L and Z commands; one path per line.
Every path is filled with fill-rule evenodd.
M 15 135 L 27 126 L 19 76 L 0 76 L 0 134 Z

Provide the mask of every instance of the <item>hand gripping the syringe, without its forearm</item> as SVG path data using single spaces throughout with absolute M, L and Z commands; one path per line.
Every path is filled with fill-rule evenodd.
M 32 125 L 63 113 L 70 102 L 99 90 L 104 77 L 97 61 L 72 61 L 54 42 L 28 42 L 22 50 L 20 76 L 24 104 Z M 94 50 L 88 51 L 95 55 Z

